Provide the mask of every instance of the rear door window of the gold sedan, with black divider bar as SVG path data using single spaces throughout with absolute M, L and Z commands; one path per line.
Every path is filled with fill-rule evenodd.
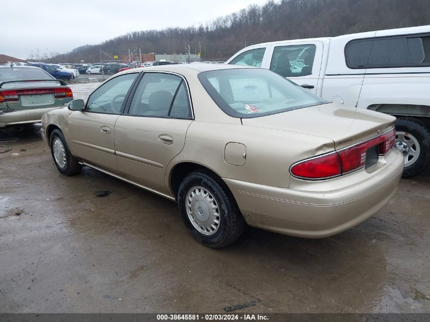
M 191 118 L 184 80 L 171 74 L 146 73 L 137 86 L 129 114 L 161 118 Z

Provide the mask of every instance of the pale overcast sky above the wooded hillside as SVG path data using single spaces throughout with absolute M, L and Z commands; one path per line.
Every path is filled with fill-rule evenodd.
M 31 51 L 67 52 L 128 32 L 187 27 L 267 0 L 2 1 L 0 54 L 25 59 Z

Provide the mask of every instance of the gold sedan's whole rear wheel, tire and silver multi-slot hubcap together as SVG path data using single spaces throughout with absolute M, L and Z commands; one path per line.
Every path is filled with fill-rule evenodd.
M 178 190 L 181 217 L 194 238 L 205 246 L 221 248 L 241 235 L 245 220 L 224 182 L 205 171 L 187 175 Z

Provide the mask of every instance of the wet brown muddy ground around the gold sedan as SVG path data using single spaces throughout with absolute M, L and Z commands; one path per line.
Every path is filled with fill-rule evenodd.
M 72 84 L 75 98 L 90 84 Z M 430 312 L 430 171 L 371 219 L 307 240 L 249 228 L 194 241 L 174 202 L 85 167 L 61 175 L 40 126 L 0 154 L 1 312 Z M 105 197 L 93 194 L 109 190 Z

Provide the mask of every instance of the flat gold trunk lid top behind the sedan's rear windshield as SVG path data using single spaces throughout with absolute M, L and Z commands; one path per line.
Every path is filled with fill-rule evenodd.
M 242 124 L 327 138 L 339 150 L 384 133 L 394 121 L 391 115 L 330 103 L 242 119 Z

